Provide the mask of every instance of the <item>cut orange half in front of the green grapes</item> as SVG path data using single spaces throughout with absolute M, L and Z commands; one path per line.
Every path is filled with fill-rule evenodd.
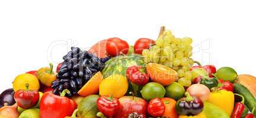
M 178 78 L 178 73 L 175 70 L 161 64 L 149 63 L 146 65 L 146 71 L 152 81 L 160 83 L 162 86 L 167 86 Z

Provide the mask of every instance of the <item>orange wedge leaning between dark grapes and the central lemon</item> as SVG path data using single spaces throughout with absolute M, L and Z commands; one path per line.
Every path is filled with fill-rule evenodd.
M 103 75 L 99 71 L 87 83 L 78 91 L 80 96 L 89 96 L 91 94 L 97 94 L 101 81 L 103 81 Z

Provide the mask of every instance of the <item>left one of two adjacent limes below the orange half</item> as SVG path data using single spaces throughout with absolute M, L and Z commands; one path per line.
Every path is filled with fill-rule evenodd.
M 156 97 L 161 99 L 165 95 L 165 88 L 159 83 L 151 82 L 143 86 L 140 92 L 145 100 L 151 100 Z

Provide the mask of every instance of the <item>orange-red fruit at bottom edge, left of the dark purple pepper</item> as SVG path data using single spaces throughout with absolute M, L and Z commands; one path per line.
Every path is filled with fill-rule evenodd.
M 176 109 L 175 109 L 176 101 L 174 99 L 170 99 L 168 97 L 162 98 L 161 101 L 165 105 L 165 112 L 162 116 L 178 118 L 178 114 L 176 113 Z

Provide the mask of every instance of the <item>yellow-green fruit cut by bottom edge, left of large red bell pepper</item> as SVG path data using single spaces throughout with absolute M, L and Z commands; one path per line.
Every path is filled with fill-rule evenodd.
M 19 118 L 40 118 L 39 109 L 27 109 L 20 114 Z

